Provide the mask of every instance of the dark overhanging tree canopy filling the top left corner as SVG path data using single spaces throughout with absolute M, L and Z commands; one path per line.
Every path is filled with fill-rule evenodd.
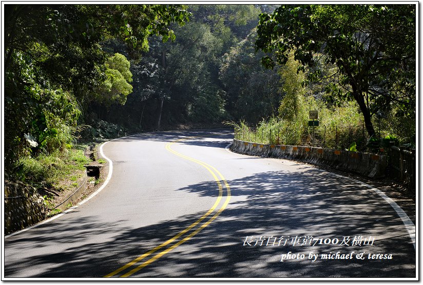
M 105 77 L 108 57 L 100 43 L 118 38 L 128 54 L 148 50 L 148 37 L 175 38 L 171 21 L 183 25 L 188 12 L 180 5 L 5 5 L 5 71 L 16 52 L 36 64 L 51 82 L 93 98 Z

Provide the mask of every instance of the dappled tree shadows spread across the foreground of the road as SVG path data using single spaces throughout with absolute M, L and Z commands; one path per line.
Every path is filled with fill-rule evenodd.
M 131 277 L 415 277 L 415 251 L 410 237 L 391 206 L 369 189 L 310 168 L 301 173 L 258 173 L 227 182 L 232 190 L 230 204 L 213 223 Z M 178 191 L 215 196 L 216 182 L 189 185 Z M 203 214 L 125 228 L 125 221 L 104 224 L 95 216 L 70 227 L 76 217 L 69 213 L 68 218 L 40 226 L 28 239 L 34 247 L 61 243 L 70 247 L 19 262 L 8 262 L 5 256 L 5 276 L 16 276 L 25 265 L 51 264 L 31 277 L 101 277 L 165 242 Z M 95 242 L 89 239 L 91 242 L 84 244 L 92 236 Z M 338 243 L 301 245 L 305 236 L 338 238 Z M 349 246 L 340 245 L 345 236 L 350 237 Z M 373 245 L 352 246 L 355 236 L 363 240 L 372 236 L 375 240 Z M 295 237 L 301 237 L 300 244 L 292 244 Z M 17 236 L 8 240 L 6 248 L 20 247 L 23 239 Z M 249 245 L 244 245 L 245 240 Z M 358 260 L 355 254 L 348 260 L 312 262 L 308 258 L 310 252 L 338 251 L 365 251 L 366 259 Z M 288 252 L 304 254 L 305 258 L 281 262 L 281 254 Z M 393 259 L 369 260 L 370 252 L 392 253 Z

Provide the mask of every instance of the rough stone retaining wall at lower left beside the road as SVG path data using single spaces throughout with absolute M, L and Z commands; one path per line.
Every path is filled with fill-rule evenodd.
M 47 208 L 43 197 L 34 187 L 5 180 L 4 212 L 7 235 L 43 221 Z

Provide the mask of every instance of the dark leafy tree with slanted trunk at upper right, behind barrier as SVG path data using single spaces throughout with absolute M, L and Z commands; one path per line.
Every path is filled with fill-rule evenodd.
M 415 13 L 412 4 L 282 5 L 260 15 L 256 50 L 268 53 L 267 68 L 284 64 L 291 50 L 311 68 L 323 54 L 339 78 L 331 91 L 357 102 L 372 136 L 375 113 L 396 105 L 398 115 L 415 114 Z

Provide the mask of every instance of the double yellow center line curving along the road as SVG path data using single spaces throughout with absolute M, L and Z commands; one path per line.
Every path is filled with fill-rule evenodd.
M 177 155 L 177 156 L 179 156 L 181 158 L 184 158 L 186 160 L 189 160 L 189 161 L 195 162 L 197 164 L 200 164 L 201 166 L 203 166 L 204 168 L 206 168 L 212 174 L 212 176 L 215 179 L 215 181 L 216 181 L 216 183 L 218 185 L 218 188 L 219 188 L 219 196 L 216 199 L 215 204 L 204 215 L 202 215 L 197 221 L 195 221 L 193 224 L 189 225 L 187 228 L 185 228 L 184 230 L 182 230 L 181 232 L 179 232 L 174 237 L 169 238 L 168 240 L 166 240 L 166 242 L 164 242 L 161 245 L 159 245 L 159 246 L 151 249 L 150 251 L 147 251 L 143 255 L 141 255 L 141 256 L 133 259 L 128 264 L 126 264 L 126 265 L 122 266 L 121 268 L 119 268 L 119 269 L 117 269 L 117 270 L 115 270 L 115 271 L 107 274 L 104 277 L 128 277 L 128 276 L 136 273 L 137 271 L 143 269 L 147 265 L 151 264 L 155 260 L 157 260 L 160 257 L 162 257 L 163 255 L 165 255 L 166 253 L 168 253 L 171 250 L 173 250 L 173 249 L 177 248 L 178 246 L 182 245 L 188 239 L 190 239 L 191 237 L 195 236 L 202 229 L 204 229 L 205 227 L 207 227 L 210 223 L 212 223 L 222 213 L 222 211 L 229 204 L 229 200 L 230 200 L 230 187 L 229 187 L 229 184 L 226 182 L 225 178 L 223 177 L 222 173 L 220 173 L 215 167 L 213 167 L 213 166 L 211 166 L 211 165 L 209 165 L 209 164 L 207 164 L 205 162 L 202 162 L 200 160 L 197 160 L 197 159 L 194 159 L 194 158 L 191 158 L 191 157 L 182 155 L 179 152 L 177 152 L 177 151 L 175 151 L 175 150 L 173 150 L 171 148 L 171 146 L 173 144 L 178 143 L 178 142 L 183 141 L 183 140 L 191 139 L 191 138 L 195 138 L 195 137 L 183 138 L 183 139 L 179 139 L 179 140 L 176 140 L 176 141 L 172 141 L 172 142 L 166 144 L 166 149 L 168 151 L 170 151 L 174 155 Z M 208 217 L 210 214 L 212 214 L 216 210 L 216 208 L 218 207 L 218 205 L 220 204 L 220 202 L 221 202 L 221 200 L 223 198 L 223 187 L 226 188 L 226 200 L 224 201 L 224 203 L 220 207 L 220 209 L 217 212 L 215 212 L 215 214 L 212 217 L 209 217 L 208 220 L 206 220 L 204 223 L 202 223 L 203 220 L 205 220 L 206 217 Z M 193 231 L 190 232 L 191 230 L 193 230 Z M 173 245 L 171 245 L 174 242 L 176 242 L 176 243 L 173 244 Z M 170 247 L 167 247 L 169 245 L 170 245 Z M 143 261 L 147 256 L 149 256 L 149 255 L 151 255 L 151 254 L 153 254 L 156 251 L 159 251 L 161 249 L 163 249 L 163 250 L 160 251 L 159 253 L 157 253 L 156 255 L 150 257 L 149 259 Z M 126 272 L 126 269 L 129 269 L 130 271 Z M 121 274 L 123 271 L 125 271 L 126 273 L 118 276 L 118 273 Z

